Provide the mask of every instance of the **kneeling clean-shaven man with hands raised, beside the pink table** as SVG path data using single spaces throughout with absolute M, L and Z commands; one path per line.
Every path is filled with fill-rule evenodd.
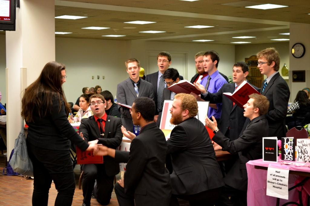
M 244 107 L 244 116 L 249 118 L 238 139 L 225 137 L 218 129 L 217 122 L 206 118 L 206 125 L 215 133 L 212 138 L 214 149 L 224 149 L 230 153 L 238 153 L 232 161 L 232 167 L 224 177 L 225 187 L 219 204 L 246 205 L 247 172 L 246 162 L 262 158 L 262 138 L 268 137 L 268 121 L 265 117 L 269 108 L 267 97 L 260 94 L 249 95 L 250 99 Z M 230 199 L 228 197 L 231 197 Z

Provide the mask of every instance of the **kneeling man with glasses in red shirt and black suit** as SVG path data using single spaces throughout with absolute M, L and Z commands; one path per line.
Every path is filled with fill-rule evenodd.
M 90 104 L 94 116 L 82 119 L 79 127 L 81 137 L 87 142 L 93 141 L 116 149 L 122 142 L 121 119 L 105 113 L 104 97 L 100 94 L 93 94 L 90 97 Z M 114 176 L 119 173 L 119 164 L 112 157 L 104 157 L 103 164 L 82 165 L 82 170 L 84 172 L 82 206 L 91 204 L 93 190 L 95 198 L 100 204 L 109 204 Z M 97 180 L 97 184 L 94 188 L 95 180 Z

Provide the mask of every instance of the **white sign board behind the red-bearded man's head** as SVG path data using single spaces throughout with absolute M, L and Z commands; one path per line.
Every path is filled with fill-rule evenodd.
M 160 121 L 160 129 L 173 130 L 175 125 L 170 123 L 171 114 L 170 108 L 172 107 L 173 100 L 165 100 L 162 108 L 162 118 Z M 195 118 L 199 119 L 203 125 L 206 125 L 205 118 L 208 114 L 209 102 L 208 101 L 197 101 L 198 103 L 198 114 Z

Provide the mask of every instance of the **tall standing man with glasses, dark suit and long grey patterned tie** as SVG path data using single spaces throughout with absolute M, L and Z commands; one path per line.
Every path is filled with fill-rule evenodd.
M 158 66 L 158 71 L 154 72 L 152 74 L 146 75 L 145 81 L 148 81 L 153 85 L 154 89 L 154 94 L 155 94 L 155 106 L 156 106 L 156 111 L 155 111 L 155 116 L 154 116 L 154 122 L 157 122 L 158 118 L 158 113 L 161 108 L 162 104 L 162 95 L 164 88 L 166 88 L 166 83 L 164 82 L 164 78 L 162 75 L 164 72 L 169 68 L 171 64 L 171 55 L 169 52 L 163 51 L 160 52 L 157 55 L 157 66 Z M 183 76 L 179 76 L 180 80 L 183 80 Z

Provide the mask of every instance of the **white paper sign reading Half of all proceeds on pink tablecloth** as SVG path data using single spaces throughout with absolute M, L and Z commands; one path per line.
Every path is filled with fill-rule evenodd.
M 289 171 L 268 167 L 266 195 L 285 200 L 289 199 Z

